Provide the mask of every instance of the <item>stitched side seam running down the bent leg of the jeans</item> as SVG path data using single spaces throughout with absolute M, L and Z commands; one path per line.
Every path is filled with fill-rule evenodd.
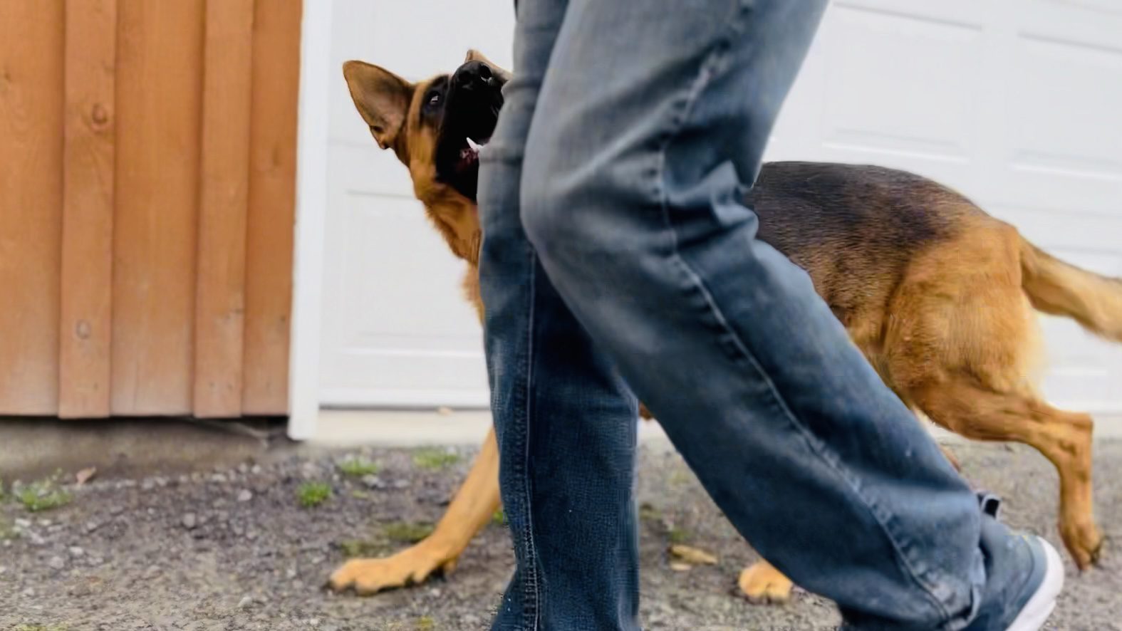
M 749 9 L 751 9 L 749 4 L 742 2 L 738 17 L 743 18 L 744 15 Z M 896 563 L 901 565 L 901 568 L 903 570 L 905 570 L 904 574 L 909 578 L 911 578 L 911 581 L 916 584 L 916 586 L 918 586 L 922 591 L 922 593 L 927 596 L 927 598 L 935 605 L 936 611 L 940 613 L 941 618 L 946 621 L 949 621 L 950 613 L 947 611 L 947 607 L 932 593 L 931 588 L 927 585 L 927 582 L 923 578 L 921 578 L 916 572 L 916 569 L 912 567 L 911 562 L 908 559 L 908 556 L 904 554 L 904 550 L 902 549 L 902 542 L 896 540 L 896 537 L 892 533 L 892 529 L 886 523 L 886 520 L 882 519 L 880 514 L 881 511 L 877 509 L 877 503 L 875 502 L 875 500 L 873 500 L 872 498 L 867 498 L 865 497 L 864 493 L 862 493 L 859 485 L 855 484 L 850 480 L 850 475 L 848 474 L 847 470 L 842 465 L 838 458 L 833 455 L 833 451 L 829 449 L 827 445 L 822 444 L 821 440 L 819 440 L 813 435 L 813 433 L 810 432 L 806 427 L 806 425 L 802 421 L 800 421 L 799 418 L 794 415 L 794 411 L 784 400 L 782 395 L 780 395 L 779 389 L 775 387 L 775 383 L 772 381 L 771 377 L 760 364 L 758 360 L 748 350 L 747 345 L 744 343 L 741 336 L 733 330 L 732 326 L 729 326 L 727 318 L 725 318 L 720 308 L 717 306 L 716 301 L 712 298 L 711 293 L 706 288 L 705 282 L 702 281 L 700 275 L 698 275 L 693 270 L 693 268 L 690 267 L 689 262 L 686 261 L 684 257 L 682 257 L 679 250 L 678 234 L 674 231 L 673 223 L 670 219 L 670 204 L 665 186 L 666 152 L 670 148 L 670 145 L 681 132 L 681 128 L 686 122 L 686 120 L 689 118 L 690 112 L 692 111 L 693 105 L 697 103 L 698 98 L 706 90 L 706 87 L 708 87 L 710 78 L 716 72 L 716 68 L 727 57 L 728 50 L 732 47 L 732 41 L 730 41 L 732 36 L 739 30 L 741 21 L 742 20 L 739 19 L 732 20 L 727 35 L 717 40 L 712 50 L 710 50 L 709 54 L 705 57 L 705 59 L 701 62 L 701 67 L 698 72 L 697 78 L 695 80 L 690 89 L 686 92 L 684 98 L 680 100 L 679 111 L 677 115 L 672 119 L 671 128 L 666 131 L 666 133 L 663 134 L 662 142 L 659 146 L 659 152 L 656 156 L 656 166 L 655 166 L 654 188 L 655 188 L 655 195 L 659 201 L 660 210 L 662 211 L 662 220 L 663 223 L 665 224 L 666 232 L 670 236 L 670 258 L 673 261 L 673 263 L 681 269 L 681 271 L 687 277 L 688 281 L 693 287 L 693 289 L 699 291 L 699 294 L 701 295 L 701 297 L 706 303 L 706 306 L 708 307 L 710 315 L 712 315 L 712 317 L 716 319 L 718 326 L 720 326 L 720 328 L 724 330 L 725 334 L 729 336 L 729 340 L 733 342 L 735 349 L 744 356 L 745 360 L 747 360 L 747 362 L 752 365 L 754 371 L 764 380 L 766 390 L 769 393 L 771 393 L 773 402 L 776 403 L 776 407 L 779 408 L 780 411 L 782 411 L 782 415 L 787 417 L 787 419 L 791 423 L 791 425 L 802 436 L 803 440 L 807 442 L 811 453 L 816 454 L 819 457 L 819 460 L 821 460 L 830 470 L 833 470 L 835 474 L 838 475 L 838 477 L 849 489 L 849 491 L 858 500 L 861 500 L 861 503 L 872 516 L 873 520 L 880 526 L 881 531 L 884 533 L 888 541 L 892 545 L 893 550 L 895 550 Z

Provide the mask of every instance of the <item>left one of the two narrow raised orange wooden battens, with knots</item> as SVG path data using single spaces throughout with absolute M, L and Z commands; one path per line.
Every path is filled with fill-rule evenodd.
M 66 0 L 58 416 L 109 415 L 117 0 Z

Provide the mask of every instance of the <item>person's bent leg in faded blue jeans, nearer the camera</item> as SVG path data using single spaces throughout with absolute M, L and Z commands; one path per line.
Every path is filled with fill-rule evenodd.
M 523 225 L 765 558 L 854 623 L 957 629 L 1010 592 L 982 612 L 993 622 L 1039 581 L 1028 546 L 983 528 L 974 493 L 742 202 L 824 6 L 571 0 L 526 143 Z

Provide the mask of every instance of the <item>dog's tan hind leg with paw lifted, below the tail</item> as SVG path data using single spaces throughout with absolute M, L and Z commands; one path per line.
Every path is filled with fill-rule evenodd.
M 1080 569 L 1098 558 L 1091 485 L 1092 428 L 1085 414 L 1058 410 L 1027 393 L 986 388 L 968 375 L 912 390 L 923 412 L 967 438 L 1015 440 L 1036 447 L 1059 472 L 1059 532 Z

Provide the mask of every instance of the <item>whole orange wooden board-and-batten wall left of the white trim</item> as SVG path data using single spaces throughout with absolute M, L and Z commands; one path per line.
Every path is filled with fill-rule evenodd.
M 300 22 L 0 3 L 0 414 L 286 414 Z

